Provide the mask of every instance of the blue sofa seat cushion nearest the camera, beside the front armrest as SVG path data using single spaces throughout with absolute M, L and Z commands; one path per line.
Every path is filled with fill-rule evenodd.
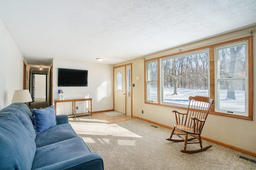
M 32 169 L 67 169 L 90 161 L 89 158 L 83 158 L 83 156 L 90 157 L 91 153 L 83 139 L 75 137 L 36 149 Z M 102 160 L 100 161 L 102 162 Z M 92 165 L 87 169 L 94 169 L 94 166 Z

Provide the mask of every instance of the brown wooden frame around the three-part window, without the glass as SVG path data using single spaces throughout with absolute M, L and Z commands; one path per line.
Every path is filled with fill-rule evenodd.
M 157 58 L 154 58 L 154 59 L 148 59 L 148 60 L 144 60 L 144 77 L 145 77 L 145 83 L 144 83 L 144 89 L 145 89 L 145 93 L 144 93 L 144 103 L 145 104 L 155 104 L 155 105 L 158 105 L 158 106 L 165 106 L 165 107 L 172 107 L 172 108 L 178 108 L 178 109 L 187 109 L 187 107 L 181 107 L 181 106 L 174 106 L 173 104 L 163 104 L 161 103 L 161 98 L 162 98 L 162 92 L 161 92 L 161 85 L 160 85 L 160 82 L 161 82 L 161 78 L 162 78 L 162 73 L 160 73 L 160 69 L 162 69 L 160 67 L 160 65 L 162 64 L 162 61 L 161 59 L 163 58 L 166 58 L 166 57 L 172 57 L 172 56 L 175 56 L 175 55 L 181 55 L 181 54 L 184 54 L 184 53 L 191 53 L 191 52 L 195 52 L 195 51 L 202 51 L 204 49 L 209 49 L 209 55 L 208 55 L 208 62 L 209 62 L 209 96 L 210 98 L 213 98 L 215 100 L 215 93 L 216 93 L 216 89 L 215 89 L 215 75 L 216 75 L 216 67 L 215 67 L 215 62 L 216 62 L 216 57 L 215 57 L 215 53 L 216 53 L 216 50 L 215 48 L 216 47 L 219 47 L 219 46 L 223 46 L 223 45 L 228 45 L 228 44 L 232 44 L 232 43 L 240 43 L 242 41 L 247 41 L 247 46 L 248 46 L 248 90 L 247 90 L 247 94 L 248 94 L 248 115 L 244 116 L 244 115 L 234 115 L 234 114 L 227 114 L 227 113 L 221 113 L 221 112 L 218 112 L 218 111 L 215 111 L 215 102 L 213 103 L 211 109 L 210 109 L 210 114 L 214 114 L 214 115 L 222 115 L 222 116 L 226 116 L 226 117 L 234 117 L 234 118 L 239 118 L 239 119 L 246 119 L 246 120 L 253 120 L 253 55 L 252 55 L 252 52 L 253 52 L 253 46 L 252 46 L 252 35 L 251 36 L 247 36 L 247 37 L 242 37 L 242 38 L 237 38 L 237 39 L 232 39 L 232 40 L 229 40 L 229 41 L 223 41 L 223 42 L 220 42 L 220 43 L 213 43 L 213 44 L 210 44 L 210 45 L 206 45 L 204 47 L 198 47 L 196 49 L 190 49 L 190 50 L 187 50 L 187 51 L 180 51 L 179 53 L 174 53 L 174 54 L 171 54 L 171 55 L 165 55 L 165 56 L 162 56 L 162 57 L 157 57 Z M 179 49 L 182 49 L 182 47 L 180 47 Z M 158 102 L 150 102 L 150 101 L 147 101 L 146 100 L 146 95 L 147 95 L 147 91 L 146 91 L 146 63 L 149 62 L 149 61 L 157 61 L 158 62 Z

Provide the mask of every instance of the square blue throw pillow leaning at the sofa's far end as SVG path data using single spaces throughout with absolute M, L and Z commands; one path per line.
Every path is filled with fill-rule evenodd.
M 54 106 L 49 106 L 44 109 L 31 109 L 31 119 L 37 136 L 57 124 L 54 109 Z

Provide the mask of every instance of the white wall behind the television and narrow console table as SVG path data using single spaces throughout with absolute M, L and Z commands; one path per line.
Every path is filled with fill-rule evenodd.
M 58 87 L 58 68 L 88 70 L 88 86 Z M 113 65 L 53 59 L 53 100 L 58 99 L 58 89 L 63 90 L 64 99 L 92 98 L 92 111 L 113 109 Z M 76 106 L 79 113 L 85 111 L 84 102 L 76 102 Z M 57 114 L 71 113 L 71 102 L 57 104 Z

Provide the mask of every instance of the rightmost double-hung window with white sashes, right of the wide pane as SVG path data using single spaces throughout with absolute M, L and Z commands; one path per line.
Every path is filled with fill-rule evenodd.
M 215 111 L 248 116 L 247 42 L 216 47 Z

